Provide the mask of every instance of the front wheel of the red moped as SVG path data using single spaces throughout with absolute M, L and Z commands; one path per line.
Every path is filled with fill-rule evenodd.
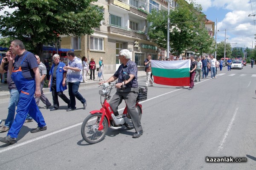
M 104 117 L 102 122 L 103 129 L 99 131 L 98 128 L 101 119 L 102 113 L 90 114 L 84 119 L 81 127 L 81 135 L 86 142 L 95 144 L 105 138 L 108 131 L 108 120 Z

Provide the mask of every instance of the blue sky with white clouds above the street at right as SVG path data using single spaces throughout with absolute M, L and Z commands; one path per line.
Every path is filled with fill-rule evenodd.
M 201 4 L 208 20 L 218 19 L 217 42 L 225 40 L 226 29 L 227 42 L 232 47 L 254 48 L 256 17 L 248 15 L 256 14 L 256 0 L 195 0 L 195 3 Z

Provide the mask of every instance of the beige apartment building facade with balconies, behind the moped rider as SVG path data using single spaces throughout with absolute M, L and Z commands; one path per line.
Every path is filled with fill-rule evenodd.
M 177 0 L 171 0 L 170 6 L 175 8 Z M 94 58 L 99 68 L 99 58 L 103 57 L 104 73 L 117 70 L 121 64 L 119 51 L 128 49 L 132 60 L 137 63 L 138 70 L 144 70 L 143 64 L 147 55 L 152 59 L 163 57 L 163 49 L 149 40 L 147 15 L 152 9 L 167 10 L 165 0 L 98 0 L 94 3 L 103 6 L 104 20 L 101 26 L 94 29 L 92 35 L 60 36 L 61 48 L 71 48 L 76 55 L 86 56 L 88 61 Z M 166 56 L 165 56 L 166 57 Z

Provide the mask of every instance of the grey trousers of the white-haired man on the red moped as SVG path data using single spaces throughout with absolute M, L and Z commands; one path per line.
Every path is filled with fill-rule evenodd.
M 140 117 L 136 111 L 136 99 L 139 93 L 138 88 L 126 88 L 124 90 L 116 89 L 116 94 L 114 94 L 113 98 L 109 102 L 113 112 L 118 113 L 118 106 L 122 103 L 122 100 L 125 100 L 125 103 L 128 107 L 128 113 L 131 116 L 131 121 L 134 125 L 136 132 L 143 130 L 140 124 Z

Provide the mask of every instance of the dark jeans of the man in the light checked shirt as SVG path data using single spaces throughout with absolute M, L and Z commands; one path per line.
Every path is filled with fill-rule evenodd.
M 76 99 L 79 99 L 81 103 L 84 104 L 85 99 L 83 96 L 78 92 L 80 82 L 68 82 L 68 94 L 70 96 L 70 108 L 76 108 Z M 76 97 L 76 98 L 75 98 Z

